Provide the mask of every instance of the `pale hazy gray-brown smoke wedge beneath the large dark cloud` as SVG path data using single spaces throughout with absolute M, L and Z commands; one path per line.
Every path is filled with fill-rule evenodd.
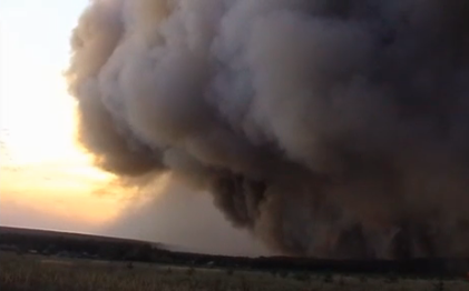
M 211 254 L 258 257 L 271 254 L 258 241 L 228 222 L 211 201 L 211 195 L 194 192 L 177 181 L 160 185 L 155 194 L 139 193 L 111 223 L 98 233 L 157 241 L 164 248 Z M 141 191 L 141 190 L 140 190 Z

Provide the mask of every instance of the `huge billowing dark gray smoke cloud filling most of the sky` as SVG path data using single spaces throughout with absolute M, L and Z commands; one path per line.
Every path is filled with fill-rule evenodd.
M 95 0 L 71 43 L 102 169 L 286 254 L 469 255 L 469 1 Z

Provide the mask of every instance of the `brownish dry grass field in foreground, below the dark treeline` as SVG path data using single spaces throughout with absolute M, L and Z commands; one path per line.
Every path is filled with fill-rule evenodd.
M 6 291 L 198 291 L 198 290 L 451 290 L 469 282 L 398 278 L 339 277 L 285 272 L 71 260 L 0 253 L 0 290 Z

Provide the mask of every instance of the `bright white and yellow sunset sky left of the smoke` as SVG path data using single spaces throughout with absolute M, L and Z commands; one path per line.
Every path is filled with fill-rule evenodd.
M 123 200 L 76 143 L 62 71 L 87 0 L 0 1 L 0 224 L 92 231 Z

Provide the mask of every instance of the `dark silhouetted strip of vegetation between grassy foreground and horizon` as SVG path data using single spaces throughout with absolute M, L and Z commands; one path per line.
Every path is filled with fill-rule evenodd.
M 245 269 L 266 271 L 287 277 L 292 272 L 342 274 L 392 274 L 398 277 L 466 277 L 469 260 L 419 259 L 402 261 L 317 260 L 314 258 L 261 257 L 241 258 L 173 252 L 136 240 L 114 239 L 76 233 L 0 228 L 0 248 L 17 253 L 37 252 L 45 255 L 100 259 L 109 261 L 138 261 L 173 265 Z M 328 279 L 329 280 L 329 279 Z

